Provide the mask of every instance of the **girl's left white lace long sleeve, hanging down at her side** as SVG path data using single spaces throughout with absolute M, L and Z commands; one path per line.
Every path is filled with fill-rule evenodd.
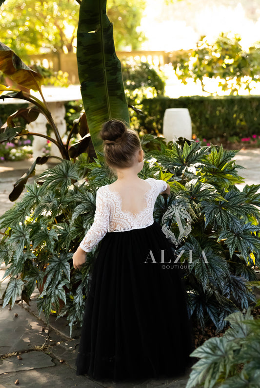
M 80 248 L 85 252 L 90 252 L 105 236 L 109 225 L 108 205 L 103 196 L 103 187 L 97 190 L 96 212 L 94 222 L 87 231 L 84 239 L 80 242 Z

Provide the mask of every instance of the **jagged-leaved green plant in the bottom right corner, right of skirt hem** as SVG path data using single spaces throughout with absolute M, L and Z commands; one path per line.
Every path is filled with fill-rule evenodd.
M 260 319 L 236 312 L 222 337 L 210 338 L 191 353 L 193 365 L 186 388 L 257 388 L 260 382 Z

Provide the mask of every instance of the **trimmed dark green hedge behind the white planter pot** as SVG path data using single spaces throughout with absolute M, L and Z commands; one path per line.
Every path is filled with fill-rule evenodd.
M 140 129 L 162 133 L 163 115 L 168 108 L 188 108 L 192 133 L 200 139 L 260 135 L 260 96 L 143 99 L 141 109 L 145 115 L 138 116 Z

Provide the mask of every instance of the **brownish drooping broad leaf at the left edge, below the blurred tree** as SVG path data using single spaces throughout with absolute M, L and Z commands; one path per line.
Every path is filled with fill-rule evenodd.
M 37 73 L 25 63 L 8 46 L 0 42 L 0 71 L 18 85 L 28 89 L 39 90 L 43 81 Z

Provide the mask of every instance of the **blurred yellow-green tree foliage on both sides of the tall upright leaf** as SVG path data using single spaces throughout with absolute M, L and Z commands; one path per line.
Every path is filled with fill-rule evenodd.
M 114 23 L 116 48 L 140 47 L 144 35 L 137 31 L 145 0 L 110 0 L 107 13 Z M 71 53 L 77 46 L 79 4 L 76 0 L 9 0 L 2 4 L 0 41 L 25 56 Z

